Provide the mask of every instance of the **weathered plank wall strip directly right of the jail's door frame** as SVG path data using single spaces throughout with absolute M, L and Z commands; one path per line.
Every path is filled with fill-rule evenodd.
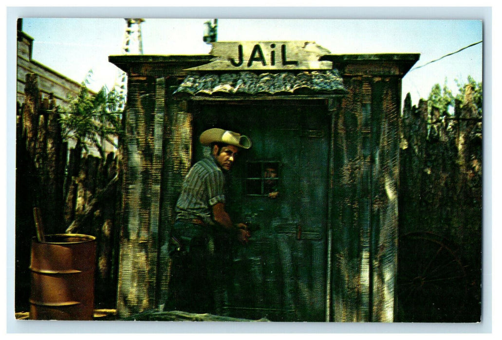
M 333 321 L 361 321 L 361 294 L 366 292 L 361 282 L 359 197 L 361 190 L 362 108 L 360 79 L 344 80 L 348 94 L 342 99 L 335 117 L 333 150 L 334 188 L 332 209 L 332 312 Z M 366 249 L 367 253 L 367 249 Z M 367 255 L 366 255 L 367 259 Z M 366 275 L 367 276 L 367 275 Z M 363 279 L 362 279 L 363 280 Z M 367 285 L 366 279 L 366 285 Z M 367 300 L 367 297 L 366 297 Z

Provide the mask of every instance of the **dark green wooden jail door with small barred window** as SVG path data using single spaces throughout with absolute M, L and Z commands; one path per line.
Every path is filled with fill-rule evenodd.
M 246 246 L 232 247 L 223 312 L 251 319 L 324 321 L 327 109 L 312 101 L 263 103 L 200 105 L 194 117 L 196 138 L 205 129 L 220 127 L 245 134 L 253 143 L 231 170 L 227 205 L 235 222 L 250 221 L 259 230 Z M 204 151 L 198 141 L 194 145 L 196 161 Z M 266 173 L 271 167 L 277 173 L 273 179 Z

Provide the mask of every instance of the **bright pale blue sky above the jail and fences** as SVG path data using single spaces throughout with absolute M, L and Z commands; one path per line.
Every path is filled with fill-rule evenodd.
M 89 17 L 90 18 L 90 17 Z M 143 18 L 143 17 L 142 17 Z M 207 54 L 199 19 L 152 19 L 141 24 L 144 55 Z M 25 18 L 23 31 L 34 39 L 33 60 L 68 78 L 82 82 L 92 70 L 89 88 L 111 89 L 119 70 L 108 56 L 123 54 L 126 21 L 82 18 Z M 313 41 L 332 54 L 419 53 L 414 67 L 439 59 L 483 40 L 480 20 L 333 20 L 218 18 L 218 41 Z M 467 76 L 482 81 L 482 48 L 478 44 L 409 72 L 403 79 L 403 98 L 412 103 L 427 98 L 434 84 Z

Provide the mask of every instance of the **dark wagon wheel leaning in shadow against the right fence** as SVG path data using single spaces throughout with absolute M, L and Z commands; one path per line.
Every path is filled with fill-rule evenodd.
M 457 250 L 430 232 L 400 237 L 397 320 L 455 322 L 464 314 L 466 272 Z

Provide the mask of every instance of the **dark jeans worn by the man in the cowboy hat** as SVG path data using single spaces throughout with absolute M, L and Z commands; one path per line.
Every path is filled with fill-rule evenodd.
M 171 231 L 169 253 L 171 275 L 164 310 L 215 313 L 211 227 L 176 221 Z

